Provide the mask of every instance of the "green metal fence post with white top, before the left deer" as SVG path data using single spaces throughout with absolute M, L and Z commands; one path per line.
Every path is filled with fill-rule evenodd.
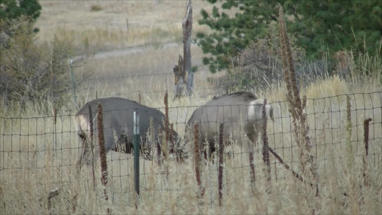
M 139 200 L 139 115 L 138 109 L 134 111 L 134 188 L 136 192 L 136 204 Z

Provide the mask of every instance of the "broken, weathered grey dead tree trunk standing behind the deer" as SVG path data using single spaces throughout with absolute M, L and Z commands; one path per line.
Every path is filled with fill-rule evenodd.
M 191 1 L 187 1 L 186 16 L 182 21 L 183 27 L 183 58 L 178 60 L 178 65 L 174 67 L 175 74 L 175 98 L 183 96 L 183 88 L 186 85 L 186 95 L 190 96 L 193 90 L 194 74 L 191 71 L 191 31 L 192 31 L 192 6 Z M 182 64 L 183 63 L 183 64 Z M 182 66 L 180 66 L 182 65 Z M 187 74 L 187 81 L 185 75 Z

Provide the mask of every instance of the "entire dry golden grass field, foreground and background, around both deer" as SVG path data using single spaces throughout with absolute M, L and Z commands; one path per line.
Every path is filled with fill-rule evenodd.
M 38 26 L 40 42 L 49 41 L 53 33 L 73 39 L 79 53 L 88 49 L 97 53 L 109 53 L 89 59 L 86 69 L 91 78 L 172 73 L 182 46 L 156 49 L 147 46 L 141 52 L 123 54 L 113 52 L 153 43 L 173 42 L 181 35 L 181 20 L 185 1 L 41 1 L 42 14 Z M 91 5 L 100 5 L 99 11 L 91 11 Z M 197 24 L 200 8 L 211 8 L 202 1 L 193 1 L 193 29 L 207 31 Z M 126 32 L 126 14 L 129 33 Z M 54 15 L 54 17 L 53 17 Z M 44 28 L 42 28 L 44 26 Z M 106 28 L 107 26 L 107 28 Z M 160 30 L 158 30 L 160 29 Z M 166 32 L 165 36 L 152 34 Z M 164 35 L 164 34 L 163 34 Z M 128 37 L 128 38 L 127 38 Z M 113 53 L 113 54 L 110 54 Z M 119 54 L 118 54 L 119 53 Z M 122 54 L 121 54 L 122 53 Z M 191 48 L 193 65 L 201 64 L 201 49 Z M 375 67 L 376 69 L 380 69 Z M 77 68 L 76 72 L 81 72 Z M 207 69 L 195 73 L 193 95 L 180 100 L 169 99 L 169 119 L 178 134 L 183 135 L 185 123 L 196 106 L 215 95 L 206 77 Z M 167 80 L 166 84 L 163 84 Z M 164 91 L 172 98 L 174 78 L 172 74 L 139 76 L 87 81 L 78 89 L 77 103 L 98 97 L 120 96 L 138 100 L 164 112 Z M 160 91 L 150 93 L 152 91 Z M 147 93 L 144 93 L 147 92 Z M 262 161 L 262 142 L 256 148 L 254 163 L 256 183 L 250 181 L 248 147 L 232 145 L 226 151 L 234 156 L 224 158 L 223 205 L 218 205 L 217 162 L 202 165 L 202 186 L 206 192 L 197 199 L 197 187 L 193 158 L 185 163 L 170 160 L 168 179 L 164 166 L 140 159 L 140 204 L 135 208 L 133 159 L 131 155 L 110 152 L 107 155 L 108 202 L 104 200 L 100 181 L 100 165 L 95 163 L 95 186 L 90 166 L 84 166 L 81 174 L 74 163 L 79 154 L 79 139 L 73 124 L 73 101 L 58 108 L 57 124 L 52 113 L 43 113 L 42 107 L 50 101 L 31 104 L 29 109 L 17 112 L 2 106 L 0 114 L 0 214 L 382 214 L 382 88 L 376 80 L 367 84 L 358 81 L 348 83 L 338 76 L 317 80 L 301 89 L 308 98 L 309 135 L 312 154 L 319 166 L 320 196 L 314 189 L 296 179 L 273 155 L 270 155 L 270 192 L 266 192 L 265 165 Z M 275 121 L 268 121 L 269 146 L 295 171 L 299 171 L 298 148 L 291 133 L 291 117 L 286 102 L 283 83 L 272 90 L 254 92 L 266 97 L 274 108 Z M 346 94 L 351 98 L 350 155 L 346 146 Z M 12 118 L 14 117 L 14 118 Z M 369 130 L 369 156 L 367 179 L 364 186 L 363 122 L 372 118 Z M 10 119 L 12 118 L 12 119 Z M 259 138 L 260 140 L 260 138 Z M 349 156 L 354 158 L 348 165 Z M 48 211 L 49 191 L 58 189 Z M 346 192 L 347 196 L 343 193 Z

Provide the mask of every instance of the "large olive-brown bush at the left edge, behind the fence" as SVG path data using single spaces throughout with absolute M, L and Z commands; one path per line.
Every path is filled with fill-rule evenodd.
M 0 46 L 1 96 L 6 103 L 18 103 L 21 108 L 28 101 L 42 102 L 48 98 L 61 105 L 72 95 L 68 59 L 73 46 L 56 36 L 50 44 L 36 45 L 36 33 L 29 20 L 30 17 L 21 16 L 17 22 L 0 21 L 2 30 L 15 29 L 7 46 Z M 83 78 L 76 77 L 77 84 Z

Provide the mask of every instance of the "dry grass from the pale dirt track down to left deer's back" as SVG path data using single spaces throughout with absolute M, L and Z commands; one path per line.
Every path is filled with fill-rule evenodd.
M 191 46 L 191 52 L 195 56 L 192 59 L 193 65 L 201 65 L 201 50 Z M 86 102 L 95 98 L 96 89 L 99 97 L 128 96 L 138 101 L 140 91 L 142 103 L 151 105 L 152 96 L 162 96 L 166 90 L 173 90 L 175 77 L 172 72 L 180 53 L 183 53 L 181 45 L 160 50 L 148 49 L 136 54 L 89 59 L 87 66 L 91 67 L 91 79 L 77 88 L 77 101 Z M 79 76 L 81 70 L 82 68 L 76 68 L 76 75 Z M 197 88 L 210 88 L 209 91 L 202 91 L 202 96 L 214 91 L 214 85 L 207 82 L 207 77 L 213 76 L 216 75 L 211 74 L 206 66 L 199 66 L 198 71 L 194 73 Z M 81 97 L 81 94 L 87 97 Z M 84 104 L 83 102 L 79 105 Z

